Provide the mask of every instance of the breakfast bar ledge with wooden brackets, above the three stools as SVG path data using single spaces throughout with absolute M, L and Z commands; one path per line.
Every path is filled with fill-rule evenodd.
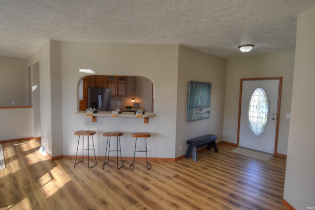
M 86 111 L 77 111 L 74 112 L 76 115 L 87 116 Z M 143 118 L 143 123 L 149 123 L 149 117 L 154 117 L 155 114 L 153 112 L 146 112 L 142 115 L 142 117 L 137 117 L 133 112 L 124 112 L 119 114 L 118 117 L 135 117 L 135 118 Z M 99 111 L 97 113 L 92 114 L 92 122 L 96 122 L 96 117 L 112 117 L 110 111 Z

